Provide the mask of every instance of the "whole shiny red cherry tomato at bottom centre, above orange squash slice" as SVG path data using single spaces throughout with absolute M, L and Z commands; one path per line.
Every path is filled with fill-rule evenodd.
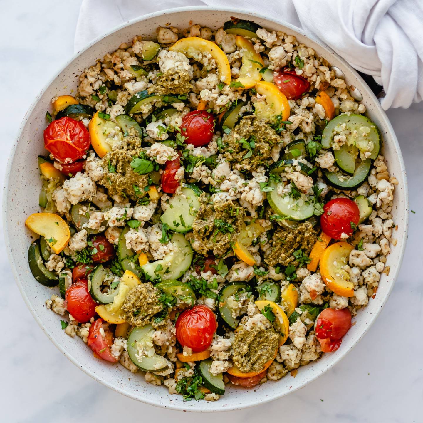
M 213 341 L 217 329 L 216 317 L 205 305 L 195 305 L 179 315 L 175 327 L 179 343 L 190 347 L 193 352 L 200 352 L 209 348 Z

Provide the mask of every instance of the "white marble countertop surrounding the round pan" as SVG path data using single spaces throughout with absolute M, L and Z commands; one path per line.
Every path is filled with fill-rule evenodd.
M 2 3 L 0 25 L 3 116 L 0 169 L 27 108 L 41 87 L 73 54 L 81 0 L 22 0 Z M 13 78 L 13 79 L 12 79 Z M 421 422 L 423 398 L 423 104 L 388 110 L 407 168 L 410 192 L 409 239 L 401 272 L 376 323 L 341 363 L 307 387 L 272 403 L 219 416 L 218 419 L 324 421 L 337 423 Z M 421 208 L 420 208 L 421 207 Z M 14 422 L 95 421 L 133 418 L 165 421 L 197 414 L 155 408 L 100 385 L 56 349 L 23 302 L 0 243 L 3 275 L 0 321 L 1 420 Z M 138 417 L 139 416 L 139 417 Z

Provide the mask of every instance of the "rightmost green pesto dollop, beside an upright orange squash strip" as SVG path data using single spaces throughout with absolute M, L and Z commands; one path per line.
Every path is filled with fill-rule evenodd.
M 316 241 L 317 231 L 310 222 L 302 222 L 297 228 L 280 227 L 273 234 L 272 248 L 268 250 L 264 261 L 269 266 L 288 266 L 290 263 L 297 265 L 294 251 L 302 250 L 306 255 L 310 255 Z

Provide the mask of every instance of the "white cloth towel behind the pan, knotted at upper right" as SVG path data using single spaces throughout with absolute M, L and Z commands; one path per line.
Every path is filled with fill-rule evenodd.
M 385 110 L 423 98 L 423 0 L 83 0 L 75 51 L 137 16 L 190 5 L 243 8 L 302 27 L 383 85 Z

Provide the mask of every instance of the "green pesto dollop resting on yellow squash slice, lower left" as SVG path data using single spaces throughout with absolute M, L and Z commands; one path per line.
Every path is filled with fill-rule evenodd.
M 159 290 L 151 282 L 140 283 L 129 291 L 122 305 L 123 318 L 132 326 L 153 323 L 153 316 L 163 310 Z

